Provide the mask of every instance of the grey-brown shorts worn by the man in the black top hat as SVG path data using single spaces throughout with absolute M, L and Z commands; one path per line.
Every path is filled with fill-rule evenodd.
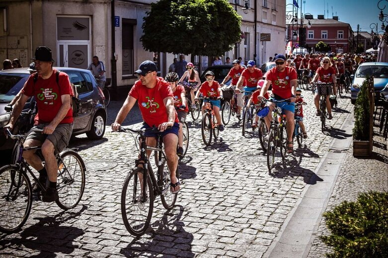
M 39 124 L 34 126 L 32 129 L 43 129 L 48 125 L 49 124 Z M 40 132 L 40 131 L 33 131 L 30 134 L 28 134 L 26 140 L 28 139 L 38 140 L 43 144 L 43 142 L 47 139 L 51 141 L 51 143 L 53 143 L 55 153 L 58 154 L 69 145 L 69 140 L 73 132 L 73 125 L 74 125 L 73 123 L 59 124 L 51 134 L 44 134 L 43 132 Z

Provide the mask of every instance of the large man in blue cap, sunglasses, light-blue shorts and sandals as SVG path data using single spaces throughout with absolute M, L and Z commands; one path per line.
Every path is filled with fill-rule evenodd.
M 274 58 L 276 67 L 270 69 L 265 77 L 264 86 L 261 89 L 259 98 L 262 99 L 267 92 L 269 86 L 272 83 L 272 96 L 271 100 L 282 101 L 289 100 L 288 102 L 276 103 L 276 106 L 282 109 L 282 112 L 286 114 L 287 121 L 287 152 L 292 153 L 294 149 L 293 144 L 293 132 L 295 128 L 294 112 L 295 112 L 295 100 L 298 75 L 296 70 L 291 66 L 286 66 L 286 57 L 282 54 L 277 55 Z M 267 102 L 271 111 L 275 109 L 275 105 L 271 102 Z M 269 129 L 270 121 L 272 121 L 272 113 L 269 112 L 265 118 L 265 124 Z

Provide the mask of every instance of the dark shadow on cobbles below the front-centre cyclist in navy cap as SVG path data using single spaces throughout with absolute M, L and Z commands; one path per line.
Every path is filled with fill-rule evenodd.
M 167 210 L 161 219 L 151 225 L 146 233 L 149 237 L 135 238 L 126 248 L 121 249 L 120 254 L 125 257 L 194 258 L 195 254 L 190 251 L 194 236 L 184 231 L 184 223 L 179 221 L 183 210 L 180 205 Z

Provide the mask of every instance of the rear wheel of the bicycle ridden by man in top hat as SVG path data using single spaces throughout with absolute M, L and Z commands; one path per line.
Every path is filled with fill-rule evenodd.
M 77 206 L 85 189 L 85 164 L 77 152 L 67 150 L 58 159 L 57 205 L 68 210 Z

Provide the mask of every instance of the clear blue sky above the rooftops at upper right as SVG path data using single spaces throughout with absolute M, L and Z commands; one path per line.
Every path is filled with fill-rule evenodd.
M 338 16 L 338 20 L 349 23 L 353 31 L 357 31 L 357 24 L 360 24 L 360 31 L 371 32 L 371 23 L 378 23 L 379 31 L 381 31 L 382 22 L 378 15 L 380 9 L 377 4 L 379 0 L 297 0 L 299 7 L 302 4 L 303 13 L 311 13 L 314 19 L 318 14 L 325 14 L 325 18 L 331 18 L 333 15 Z M 293 3 L 293 0 L 286 0 L 286 4 Z M 326 5 L 326 7 L 324 6 Z M 380 7 L 386 8 L 383 13 L 388 14 L 388 0 L 382 0 Z M 328 16 L 327 16 L 328 6 Z M 286 11 L 291 10 L 291 5 L 287 6 Z M 324 13 L 324 10 L 326 12 Z M 300 16 L 300 9 L 299 9 Z M 388 20 L 388 17 L 387 17 Z M 387 25 L 388 22 L 385 22 Z M 376 25 L 372 25 L 374 28 Z M 373 29 L 376 32 L 376 29 Z

